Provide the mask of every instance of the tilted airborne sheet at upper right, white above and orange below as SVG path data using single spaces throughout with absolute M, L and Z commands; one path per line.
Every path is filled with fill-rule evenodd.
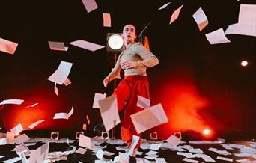
M 202 31 L 204 27 L 208 25 L 207 16 L 205 15 L 204 10 L 202 10 L 201 7 L 193 14 L 193 18 L 198 24 L 199 31 Z

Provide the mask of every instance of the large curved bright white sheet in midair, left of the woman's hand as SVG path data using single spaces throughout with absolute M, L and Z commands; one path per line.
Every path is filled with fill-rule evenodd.
M 48 78 L 48 80 L 62 85 L 67 79 L 67 76 L 70 73 L 71 67 L 72 67 L 72 63 L 61 61 L 61 64 L 59 64 L 58 69 L 55 70 L 55 73 L 53 73 L 52 76 Z

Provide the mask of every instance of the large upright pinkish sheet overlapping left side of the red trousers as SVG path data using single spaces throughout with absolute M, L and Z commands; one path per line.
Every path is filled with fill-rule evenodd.
M 109 132 L 110 129 L 120 123 L 117 96 L 109 96 L 106 99 L 101 99 L 99 105 L 106 132 Z

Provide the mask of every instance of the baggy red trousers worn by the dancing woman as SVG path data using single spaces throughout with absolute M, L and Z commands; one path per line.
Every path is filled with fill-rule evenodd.
M 143 110 L 137 106 L 138 95 L 150 99 L 147 76 L 125 76 L 115 89 L 114 95 L 117 95 L 118 111 L 124 109 L 124 117 L 121 123 L 121 138 L 127 141 L 128 147 L 132 144 L 132 135 L 138 134 L 133 126 L 130 115 Z M 135 149 L 141 144 L 138 141 Z

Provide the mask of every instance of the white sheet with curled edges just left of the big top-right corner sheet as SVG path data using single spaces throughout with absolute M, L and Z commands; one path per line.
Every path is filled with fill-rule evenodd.
M 210 44 L 219 44 L 219 43 L 230 43 L 231 41 L 225 36 L 222 28 L 219 28 L 216 31 L 212 31 L 209 34 L 205 34 L 207 40 Z

